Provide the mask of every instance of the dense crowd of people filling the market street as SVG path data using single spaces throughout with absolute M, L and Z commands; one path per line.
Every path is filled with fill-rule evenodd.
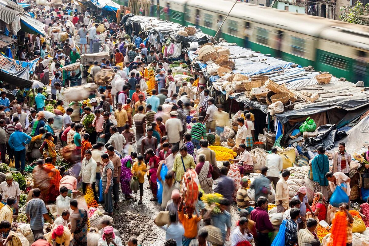
M 78 189 L 83 194 L 92 191 L 94 200 L 104 205 L 106 215 L 112 216 L 122 205 L 122 197 L 141 205 L 144 188 L 151 190 L 150 201 L 168 211 L 168 223 L 161 226 L 166 231 L 165 246 L 321 244 L 316 228 L 332 208 L 327 202 L 328 194 L 315 192 L 309 204 L 307 189 L 302 186 L 290 198 L 287 180 L 292 174 L 283 170 L 276 148 L 266 157 L 261 174 L 249 184 L 246 176 L 254 169 L 249 151 L 256 137 L 255 116 L 247 105 L 237 118 L 232 148 L 237 156 L 221 164 L 215 151 L 208 148 L 207 134 L 220 135 L 229 125 L 229 114 L 224 105 L 215 104 L 202 72 L 191 71 L 197 85 L 194 78 L 175 79 L 170 68 L 173 63 L 161 52 L 161 44 L 144 43 L 141 33 L 126 33 L 124 25 L 103 12 L 90 8 L 78 12 L 70 3 L 58 8 L 32 6 L 32 11 L 45 24 L 49 39 L 37 35 L 33 40 L 28 35 L 30 45 L 20 47 L 17 56 L 27 60 L 34 54 L 39 59 L 35 75 L 51 87 L 51 95 L 45 96 L 44 88 L 39 87 L 34 105 L 28 103 L 24 90 L 12 102 L 5 91 L 0 97 L 1 161 L 22 174 L 33 173 L 25 206 L 34 235 L 32 246 L 87 245 L 87 233 L 91 232 L 89 211 L 74 199 Z M 100 25 L 103 32 L 97 31 Z M 63 38 L 63 32 L 67 38 Z M 91 63 L 87 74 L 82 64 L 77 70 L 63 70 L 66 65 L 80 62 L 81 53 L 97 53 L 104 46 L 110 57 Z M 50 81 L 45 76 L 48 67 L 43 65 L 44 59 L 52 62 Z M 187 55 L 183 54 L 183 59 L 190 65 Z M 66 88 L 81 86 L 84 76 L 87 83 L 96 82 L 94 75 L 104 69 L 115 72 L 110 84 L 100 86 L 96 93 L 80 101 L 80 111 L 69 106 Z M 155 83 L 147 89 L 149 71 L 153 72 Z M 53 100 L 55 119 L 62 119 L 59 129 L 54 117 L 45 115 L 45 102 Z M 76 110 L 77 120 L 73 117 L 72 121 Z M 73 166 L 69 170 L 57 164 L 61 152 L 70 153 L 68 161 Z M 345 143 L 340 143 L 339 151 L 334 153 L 331 171 L 325 149 L 319 147 L 317 153 L 309 164 L 311 179 L 321 187 L 329 187 L 332 193 L 337 187 L 344 190 L 349 202 L 352 157 L 346 152 Z M 363 153 L 363 157 L 369 161 L 368 153 Z M 181 190 L 183 176 L 190 169 L 196 172 L 201 188 L 196 206 L 186 203 Z M 13 237 L 10 231 L 17 221 L 21 190 L 11 173 L 0 173 L 0 181 L 0 245 L 7 245 Z M 248 189 L 255 190 L 254 201 L 249 198 Z M 208 207 L 201 197 L 212 193 L 220 194 L 221 200 Z M 272 224 L 268 214 L 271 195 L 275 214 L 280 216 L 279 224 Z M 56 216 L 51 218 L 45 204 L 53 202 Z M 332 208 L 338 212 L 332 221 L 330 245 L 352 245 L 354 218 L 348 202 Z M 231 212 L 235 205 L 239 215 Z M 214 212 L 214 207 L 219 211 Z M 369 226 L 368 203 L 361 205 L 358 214 Z M 235 225 L 232 216 L 237 217 Z M 158 224 L 158 220 L 156 217 L 154 223 Z M 52 229 L 44 235 L 46 221 Z M 97 245 L 123 246 L 127 239 L 122 242 L 109 221 L 102 224 Z M 136 246 L 134 236 L 138 235 L 130 236 L 133 237 L 128 239 L 128 245 Z

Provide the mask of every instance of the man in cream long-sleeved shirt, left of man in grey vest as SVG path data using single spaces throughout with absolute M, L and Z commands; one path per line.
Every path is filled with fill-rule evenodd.
M 97 163 L 92 159 L 91 150 L 85 151 L 85 158 L 82 160 L 81 170 L 78 175 L 78 183 L 82 180 L 82 191 L 86 194 L 87 187 L 92 188 L 95 193 Z

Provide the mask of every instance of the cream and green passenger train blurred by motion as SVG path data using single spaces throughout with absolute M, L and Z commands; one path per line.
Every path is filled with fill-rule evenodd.
M 150 14 L 156 17 L 155 3 Z M 160 18 L 214 36 L 233 4 L 234 0 L 160 0 Z M 364 25 L 238 1 L 218 37 L 369 86 L 369 29 Z

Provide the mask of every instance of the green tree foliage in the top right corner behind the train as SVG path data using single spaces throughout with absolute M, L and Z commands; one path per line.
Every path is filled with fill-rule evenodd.
M 369 14 L 369 3 L 364 6 L 361 1 L 357 1 L 354 6 L 344 6 L 339 10 L 341 11 L 340 18 L 342 21 L 362 25 L 367 24 L 359 15 Z

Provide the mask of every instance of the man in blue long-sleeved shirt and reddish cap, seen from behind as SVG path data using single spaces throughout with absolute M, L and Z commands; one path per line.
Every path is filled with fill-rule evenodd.
M 21 172 L 23 172 L 25 166 L 25 145 L 31 142 L 31 136 L 19 131 L 22 129 L 22 124 L 20 123 L 15 124 L 14 129 L 15 132 L 9 136 L 9 146 L 14 150 L 15 168 L 19 170 L 20 166 Z M 19 163 L 21 164 L 19 165 Z

